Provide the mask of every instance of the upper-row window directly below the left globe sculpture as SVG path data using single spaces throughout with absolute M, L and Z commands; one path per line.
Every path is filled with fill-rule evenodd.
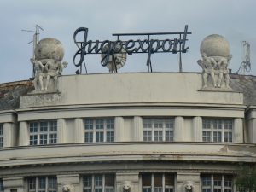
M 57 121 L 42 121 L 29 123 L 30 145 L 45 145 L 57 143 Z

